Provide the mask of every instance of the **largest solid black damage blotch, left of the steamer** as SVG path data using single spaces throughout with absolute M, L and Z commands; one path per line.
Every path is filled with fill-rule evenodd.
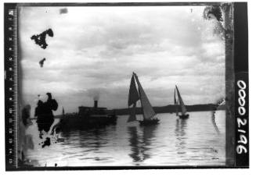
M 42 138 L 42 130 L 45 133 L 49 132 L 49 129 L 54 122 L 54 115 L 52 110 L 56 111 L 58 103 L 55 99 L 52 99 L 52 94 L 47 93 L 48 100 L 44 103 L 41 100 L 38 101 L 38 107 L 35 108 L 34 116 L 37 116 L 38 130 L 40 132 L 39 137 Z

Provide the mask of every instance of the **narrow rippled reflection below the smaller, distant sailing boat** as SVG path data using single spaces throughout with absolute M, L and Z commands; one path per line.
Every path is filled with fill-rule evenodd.
M 187 128 L 187 119 L 176 119 L 175 126 L 175 136 L 176 136 L 176 147 L 177 154 L 182 156 L 186 154 L 186 128 Z

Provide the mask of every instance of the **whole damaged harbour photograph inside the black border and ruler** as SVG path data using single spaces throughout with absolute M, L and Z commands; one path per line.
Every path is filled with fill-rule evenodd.
M 233 9 L 17 5 L 17 167 L 225 167 Z

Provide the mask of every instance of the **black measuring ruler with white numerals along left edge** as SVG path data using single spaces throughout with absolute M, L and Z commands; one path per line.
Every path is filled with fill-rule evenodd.
M 18 56 L 16 3 L 5 4 L 5 169 L 18 167 Z

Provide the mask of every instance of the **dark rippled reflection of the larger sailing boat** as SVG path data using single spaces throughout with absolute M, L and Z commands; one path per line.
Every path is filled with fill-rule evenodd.
M 131 146 L 132 153 L 129 156 L 133 161 L 145 161 L 150 158 L 152 149 L 153 138 L 155 137 L 155 130 L 157 126 L 143 126 L 142 136 L 139 136 L 139 132 L 136 126 L 128 127 L 129 145 Z

